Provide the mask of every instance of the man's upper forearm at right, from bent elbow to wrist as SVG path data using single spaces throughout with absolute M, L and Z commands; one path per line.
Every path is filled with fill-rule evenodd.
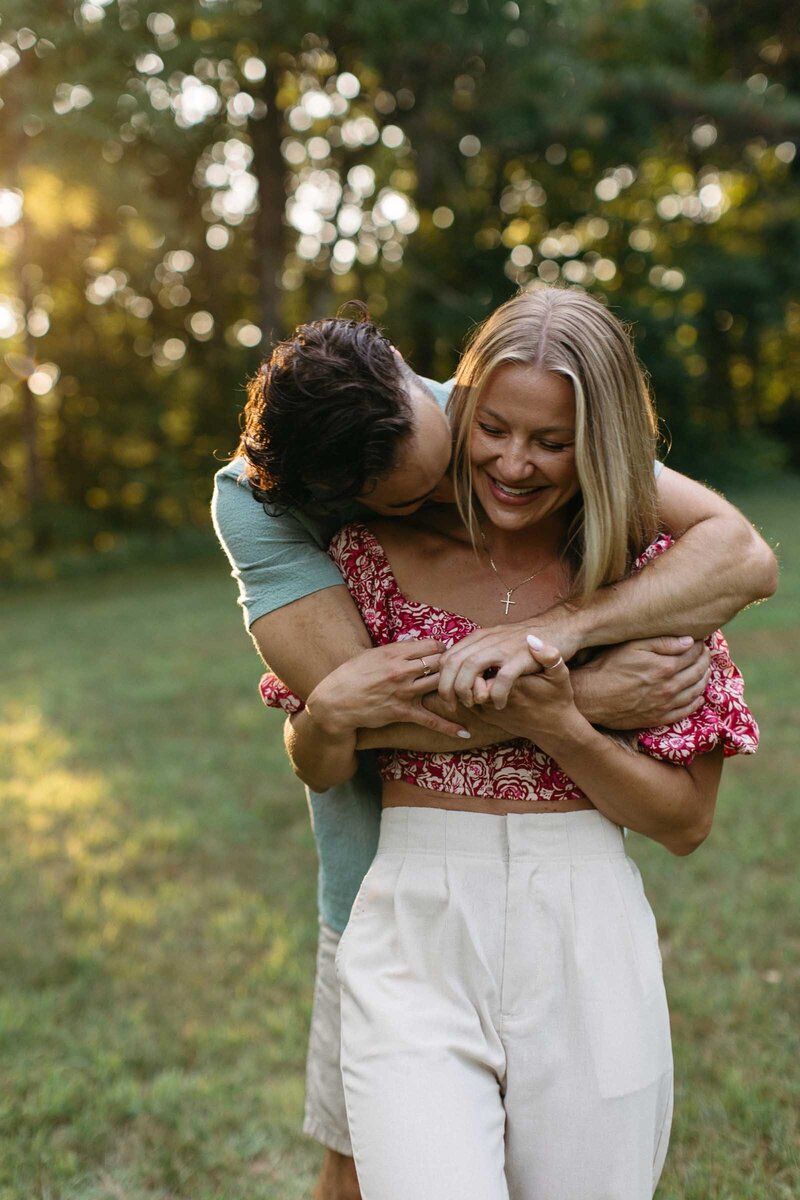
M 774 562 L 754 530 L 732 532 L 726 518 L 709 517 L 643 571 L 579 607 L 557 605 L 531 625 L 555 644 L 563 631 L 572 653 L 661 635 L 702 640 L 775 590 Z

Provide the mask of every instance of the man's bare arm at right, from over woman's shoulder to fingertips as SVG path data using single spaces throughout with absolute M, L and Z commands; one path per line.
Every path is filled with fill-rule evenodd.
M 658 502 L 664 526 L 679 535 L 674 546 L 637 575 L 601 588 L 585 605 L 557 605 L 535 622 L 471 634 L 445 655 L 441 697 L 469 707 L 476 679 L 498 667 L 492 703 L 501 708 L 513 682 L 530 671 L 529 632 L 558 646 L 567 660 L 581 649 L 633 638 L 700 640 L 775 592 L 775 554 L 723 497 L 664 468 Z

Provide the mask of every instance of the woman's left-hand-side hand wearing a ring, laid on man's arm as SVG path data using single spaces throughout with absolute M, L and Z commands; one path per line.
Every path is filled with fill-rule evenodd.
M 425 638 L 356 654 L 314 688 L 306 712 L 330 736 L 413 722 L 451 738 L 469 737 L 461 724 L 422 703 L 439 686 L 443 650 L 441 642 Z

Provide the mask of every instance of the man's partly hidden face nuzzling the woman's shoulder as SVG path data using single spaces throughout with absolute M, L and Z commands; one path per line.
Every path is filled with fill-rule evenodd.
M 403 442 L 397 466 L 359 497 L 359 503 L 387 517 L 407 517 L 446 484 L 452 455 L 447 418 L 428 391 L 411 384 L 408 391 L 414 428 Z

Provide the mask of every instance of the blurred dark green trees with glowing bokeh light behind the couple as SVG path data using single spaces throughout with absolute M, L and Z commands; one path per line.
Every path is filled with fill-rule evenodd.
M 800 466 L 792 6 L 6 0 L 0 100 L 5 572 L 205 529 L 260 354 L 354 298 L 444 378 L 589 288 L 673 466 Z

